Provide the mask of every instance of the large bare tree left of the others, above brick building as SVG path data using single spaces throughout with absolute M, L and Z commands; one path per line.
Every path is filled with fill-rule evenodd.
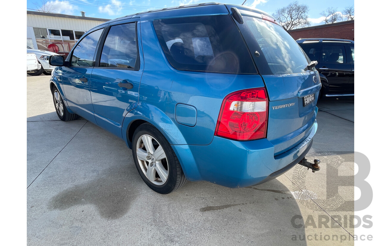
M 308 11 L 309 7 L 307 5 L 299 4 L 298 1 L 295 1 L 283 8 L 277 9 L 272 15 L 288 31 L 296 27 L 309 26 Z

